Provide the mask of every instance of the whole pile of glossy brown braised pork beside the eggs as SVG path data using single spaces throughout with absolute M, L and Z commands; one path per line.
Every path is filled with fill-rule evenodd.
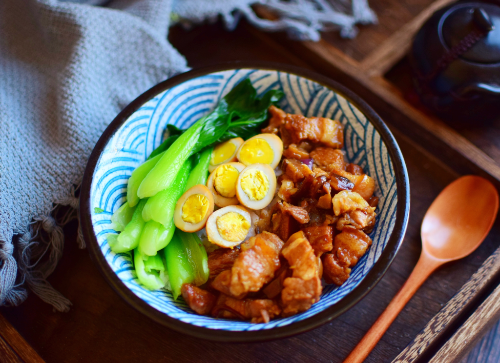
M 372 244 L 374 180 L 340 150 L 340 122 L 271 106 L 264 133 L 284 145 L 274 200 L 255 211 L 255 236 L 208 255 L 206 290 L 182 289 L 198 314 L 266 323 L 309 309 L 342 285 Z M 185 295 L 185 296 L 184 296 Z

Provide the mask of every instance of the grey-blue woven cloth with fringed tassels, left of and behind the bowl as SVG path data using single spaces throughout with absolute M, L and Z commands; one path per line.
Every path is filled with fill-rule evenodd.
M 188 69 L 167 41 L 171 19 L 188 25 L 220 16 L 232 29 L 245 16 L 311 40 L 332 27 L 353 36 L 355 23 L 376 21 L 366 0 L 331 1 L 0 0 L 0 305 L 18 305 L 28 288 L 69 309 L 46 278 L 74 212 L 55 220 L 54 209 L 77 207 L 87 158 L 119 111 Z M 279 18 L 258 18 L 255 2 Z

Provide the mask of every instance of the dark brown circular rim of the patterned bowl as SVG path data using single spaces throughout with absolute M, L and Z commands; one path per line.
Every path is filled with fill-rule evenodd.
M 355 105 L 378 131 L 387 147 L 387 152 L 389 153 L 394 166 L 398 198 L 395 225 L 385 248 L 378 258 L 378 261 L 372 266 L 366 276 L 350 293 L 345 295 L 337 303 L 311 317 L 293 322 L 283 327 L 274 327 L 258 331 L 226 331 L 198 327 L 189 323 L 181 322 L 175 318 L 171 318 L 148 305 L 131 290 L 129 290 L 108 265 L 104 255 L 100 251 L 100 247 L 93 232 L 90 212 L 90 187 L 95 167 L 110 138 L 133 112 L 158 93 L 191 78 L 196 78 L 213 72 L 241 68 L 275 70 L 298 75 L 334 90 L 336 93 L 339 93 L 350 103 Z M 381 120 L 381 118 L 375 113 L 375 111 L 359 96 L 354 94 L 345 86 L 314 71 L 293 65 L 267 61 L 233 61 L 200 67 L 175 75 L 151 87 L 130 102 L 106 127 L 103 134 L 95 144 L 83 173 L 79 200 L 78 216 L 80 220 L 80 227 L 83 233 L 83 239 L 88 247 L 91 260 L 98 267 L 98 270 L 109 285 L 111 285 L 113 290 L 134 309 L 167 328 L 196 338 L 217 342 L 261 342 L 286 338 L 299 333 L 307 332 L 337 318 L 339 315 L 354 306 L 354 304 L 359 302 L 380 281 L 399 250 L 406 232 L 409 217 L 409 182 L 404 159 L 392 133 L 389 131 L 388 127 Z

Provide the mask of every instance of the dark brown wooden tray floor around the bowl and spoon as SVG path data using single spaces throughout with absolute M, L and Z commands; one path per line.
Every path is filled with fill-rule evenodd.
M 339 76 L 338 70 L 331 69 L 328 64 L 313 64 L 300 52 L 287 50 L 287 45 L 244 22 L 230 33 L 219 23 L 189 32 L 175 27 L 169 38 L 192 67 L 229 60 L 291 63 L 313 67 L 355 92 L 362 91 L 358 83 Z M 370 105 L 382 117 L 387 117 L 386 109 L 377 102 L 370 102 Z M 329 324 L 292 338 L 255 344 L 212 343 L 171 331 L 133 310 L 110 288 L 90 261 L 88 252 L 77 248 L 74 221 L 64 228 L 64 254 L 48 279 L 73 303 L 69 313 L 53 312 L 33 294 L 19 307 L 0 308 L 0 313 L 46 362 L 341 362 L 410 274 L 420 252 L 419 227 L 423 214 L 437 194 L 461 172 L 434 156 L 433 151 L 414 139 L 412 133 L 405 134 L 404 127 L 394 127 L 393 120 L 387 121 L 408 168 L 411 188 L 408 230 L 399 253 L 380 283 L 357 305 Z M 497 221 L 473 254 L 436 271 L 401 312 L 366 362 L 391 362 L 498 247 L 499 237 L 500 223 Z M 18 353 L 27 352 L 25 346 L 9 343 L 14 351 L 19 347 Z M 0 341 L 0 352 L 2 344 Z M 15 355 L 9 357 L 0 358 L 0 362 L 2 359 L 5 362 L 26 361 Z

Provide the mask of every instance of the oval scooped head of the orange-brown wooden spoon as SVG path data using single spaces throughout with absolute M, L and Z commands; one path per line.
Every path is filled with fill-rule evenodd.
M 461 177 L 432 202 L 422 221 L 422 252 L 443 262 L 474 251 L 488 234 L 498 211 L 498 193 L 487 180 Z

